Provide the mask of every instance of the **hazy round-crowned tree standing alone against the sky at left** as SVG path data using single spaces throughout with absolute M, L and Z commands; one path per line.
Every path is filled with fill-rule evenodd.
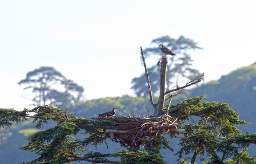
M 53 67 L 40 67 L 26 74 L 26 79 L 19 81 L 19 85 L 27 85 L 36 93 L 33 105 L 52 105 L 70 108 L 78 103 L 84 88 L 66 79 L 61 72 Z

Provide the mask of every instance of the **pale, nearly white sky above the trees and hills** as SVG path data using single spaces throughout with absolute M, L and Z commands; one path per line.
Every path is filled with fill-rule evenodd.
M 132 95 L 140 46 L 184 35 L 206 81 L 256 62 L 256 1 L 0 1 L 0 107 L 31 108 L 17 83 L 52 66 L 86 99 Z M 149 64 L 150 65 L 150 64 Z M 95 71 L 93 71 L 93 69 Z

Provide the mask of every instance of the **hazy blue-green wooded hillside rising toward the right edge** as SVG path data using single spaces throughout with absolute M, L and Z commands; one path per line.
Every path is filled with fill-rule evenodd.
M 250 125 L 241 125 L 243 132 L 256 133 L 256 63 L 238 68 L 223 75 L 219 80 L 210 81 L 191 92 L 183 92 L 178 100 L 193 96 L 208 97 L 205 101 L 222 101 L 230 103 L 230 107 L 239 113 L 239 118 Z

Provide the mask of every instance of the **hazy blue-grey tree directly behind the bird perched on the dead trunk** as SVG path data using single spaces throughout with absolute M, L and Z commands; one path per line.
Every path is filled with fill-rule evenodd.
M 166 75 L 166 89 L 170 90 L 174 84 L 178 81 L 183 80 L 192 80 L 201 75 L 197 69 L 191 68 L 193 60 L 191 59 L 191 55 L 188 54 L 188 50 L 202 50 L 201 47 L 198 47 L 194 40 L 185 38 L 184 36 L 180 36 L 178 39 L 171 38 L 170 36 L 162 36 L 160 38 L 153 39 L 151 44 L 152 48 L 146 48 L 144 50 L 145 58 L 149 58 L 149 56 L 160 56 L 163 53 L 159 49 L 159 44 L 163 43 L 164 46 L 170 48 L 176 56 L 170 57 L 170 61 L 167 64 L 167 75 Z M 167 55 L 168 56 L 168 55 Z M 169 56 L 168 56 L 169 57 Z M 156 96 L 158 94 L 157 90 L 159 89 L 159 68 L 156 63 L 152 65 L 152 67 L 148 68 L 148 72 L 152 72 L 151 79 L 151 88 L 153 95 Z M 145 94 L 145 91 L 148 90 L 147 84 L 145 83 L 144 74 L 140 77 L 135 77 L 132 79 L 132 88 L 137 96 L 145 97 L 148 96 Z

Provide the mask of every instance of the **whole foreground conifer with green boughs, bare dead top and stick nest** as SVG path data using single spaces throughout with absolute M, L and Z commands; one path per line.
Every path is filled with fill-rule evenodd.
M 32 134 L 28 144 L 21 147 L 22 150 L 38 155 L 27 163 L 165 163 L 160 153 L 162 149 L 175 151 L 179 163 L 195 163 L 198 158 L 205 161 L 205 156 L 209 158 L 205 163 L 255 163 L 256 157 L 251 157 L 247 151 L 249 145 L 256 144 L 256 134 L 244 134 L 237 128 L 249 122 L 239 120 L 239 114 L 228 103 L 204 101 L 206 97 L 203 96 L 185 99 L 176 105 L 171 103 L 172 97 L 182 93 L 184 88 L 199 83 L 202 76 L 188 81 L 183 87 L 177 85 L 174 89 L 166 90 L 163 87 L 168 63 L 165 56 L 160 68 L 159 85 L 162 87 L 159 87 L 159 101 L 154 103 L 149 80 L 151 73 L 147 71 L 143 54 L 141 48 L 149 102 L 154 108 L 150 116 L 128 114 L 86 119 L 60 106 L 38 105 L 22 111 L 0 109 L 0 128 L 10 127 L 14 122 L 32 120 L 36 128 L 40 129 L 49 121 L 56 122 L 56 126 Z M 34 80 L 30 80 L 33 84 Z M 44 84 L 45 80 L 41 83 L 43 87 L 49 86 Z M 103 102 L 112 101 L 106 98 Z M 113 101 L 113 105 L 121 106 L 120 102 Z M 95 106 L 92 102 L 88 105 Z M 111 104 L 107 105 L 112 107 Z M 85 134 L 85 137 L 78 137 L 78 134 Z M 173 149 L 167 135 L 179 141 L 179 150 Z M 107 145 L 107 139 L 119 144 L 120 149 L 114 153 L 89 149 L 89 146 Z

